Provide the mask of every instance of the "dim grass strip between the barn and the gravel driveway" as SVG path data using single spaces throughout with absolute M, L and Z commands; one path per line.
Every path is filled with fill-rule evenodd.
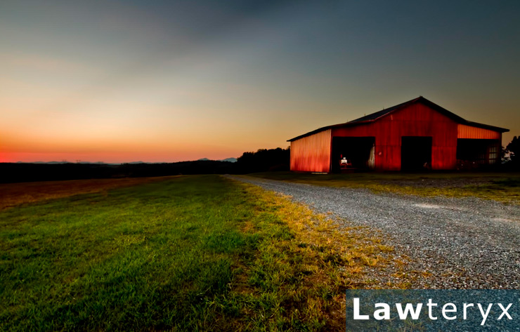
M 520 173 L 345 173 L 311 174 L 268 172 L 257 178 L 325 185 L 368 188 L 424 196 L 479 197 L 520 204 Z

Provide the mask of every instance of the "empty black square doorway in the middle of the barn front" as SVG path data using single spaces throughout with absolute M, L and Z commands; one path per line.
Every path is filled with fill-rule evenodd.
M 431 168 L 431 137 L 401 138 L 401 171 L 424 171 Z

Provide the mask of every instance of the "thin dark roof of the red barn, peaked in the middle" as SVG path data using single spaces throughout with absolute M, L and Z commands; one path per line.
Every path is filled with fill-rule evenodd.
M 414 98 L 412 100 L 408 100 L 407 102 L 402 102 L 401 104 L 398 104 L 398 105 L 395 105 L 395 106 L 392 106 L 392 107 L 389 107 L 386 109 L 382 109 L 378 112 L 374 112 L 372 114 L 365 115 L 364 117 L 360 117 L 358 119 L 347 121 L 342 124 L 333 124 L 330 126 L 321 127 L 314 131 L 309 131 L 308 133 L 304 133 L 303 135 L 299 135 L 295 138 L 291 138 L 290 140 L 287 140 L 287 142 L 292 142 L 293 140 L 299 140 L 300 138 L 304 138 L 306 136 L 313 135 L 315 133 L 319 133 L 320 131 L 326 131 L 327 129 L 330 129 L 330 128 L 337 128 L 337 127 L 344 127 L 344 126 L 358 126 L 360 124 L 369 124 L 371 122 L 381 119 L 382 117 L 385 117 L 386 115 L 396 112 L 398 109 L 401 109 L 408 105 L 412 105 L 415 102 L 422 102 L 425 105 L 428 105 L 429 107 L 431 107 L 433 109 L 436 109 L 437 112 L 446 115 L 446 117 L 453 119 L 453 121 L 455 121 L 459 124 L 465 124 L 467 126 L 489 129 L 492 131 L 500 131 L 501 133 L 505 133 L 506 131 L 509 131 L 509 129 L 506 129 L 506 128 L 490 126 L 488 124 L 479 124 L 478 122 L 474 122 L 474 121 L 468 121 L 462 117 L 459 117 L 457 114 L 448 111 L 448 109 L 441 107 L 441 106 L 437 105 L 436 103 L 431 102 L 430 100 L 427 100 L 422 95 L 420 95 L 419 97 Z

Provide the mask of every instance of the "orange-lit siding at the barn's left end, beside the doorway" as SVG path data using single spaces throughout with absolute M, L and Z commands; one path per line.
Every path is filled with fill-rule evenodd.
M 330 172 L 331 130 L 291 142 L 291 171 Z

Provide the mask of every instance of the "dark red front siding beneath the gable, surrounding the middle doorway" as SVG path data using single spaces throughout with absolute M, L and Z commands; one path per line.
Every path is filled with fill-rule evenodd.
M 370 124 L 334 128 L 332 136 L 375 136 L 375 168 L 401 170 L 401 137 L 430 136 L 431 168 L 455 168 L 457 123 L 420 103 L 403 107 Z

